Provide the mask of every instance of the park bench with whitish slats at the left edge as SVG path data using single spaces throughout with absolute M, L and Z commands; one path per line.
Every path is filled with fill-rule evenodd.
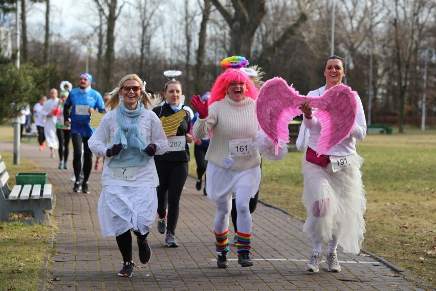
M 0 159 L 2 156 L 0 155 Z M 17 174 L 20 175 L 20 173 Z M 52 185 L 47 184 L 47 174 L 39 174 L 45 176 L 46 183 L 35 183 L 41 178 L 29 179 L 26 181 L 26 177 L 32 174 L 23 175 L 20 180 L 23 180 L 23 185 L 15 185 L 12 190 L 9 188 L 8 180 L 9 174 L 6 171 L 6 165 L 4 161 L 0 160 L 0 192 L 3 197 L 0 196 L 0 220 L 8 221 L 10 213 L 24 213 L 26 216 L 33 216 L 29 219 L 16 219 L 15 221 L 32 223 L 44 223 L 44 216 L 46 210 L 53 208 L 53 193 Z M 37 177 L 38 174 L 35 174 Z M 50 223 L 50 217 L 47 214 L 46 219 L 48 224 Z

